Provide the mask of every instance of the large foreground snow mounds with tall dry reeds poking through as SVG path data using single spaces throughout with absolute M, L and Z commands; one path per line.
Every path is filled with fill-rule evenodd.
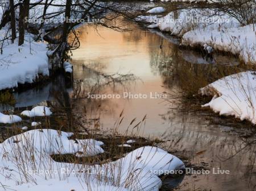
M 69 140 L 72 133 L 31 130 L 0 144 L 3 190 L 159 190 L 157 175 L 184 168 L 177 157 L 156 147 L 142 147 L 103 165 L 59 163 L 52 154 L 104 152 L 93 139 Z M 9 178 L 6 178 L 9 177 Z

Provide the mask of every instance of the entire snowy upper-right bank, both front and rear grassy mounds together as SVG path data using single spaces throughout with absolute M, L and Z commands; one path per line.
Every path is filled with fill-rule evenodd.
M 150 23 L 148 28 L 159 28 L 181 38 L 182 45 L 231 52 L 240 55 L 245 63 L 255 64 L 256 34 L 253 24 L 240 27 L 236 19 L 226 14 L 210 15 L 214 15 L 214 10 L 191 9 L 171 12 L 161 18 L 156 15 L 138 16 L 137 20 Z

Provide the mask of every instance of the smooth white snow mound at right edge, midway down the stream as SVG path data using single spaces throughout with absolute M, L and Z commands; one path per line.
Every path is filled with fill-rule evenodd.
M 256 73 L 241 72 L 226 76 L 200 89 L 202 95 L 213 96 L 209 106 L 220 115 L 233 115 L 256 124 Z

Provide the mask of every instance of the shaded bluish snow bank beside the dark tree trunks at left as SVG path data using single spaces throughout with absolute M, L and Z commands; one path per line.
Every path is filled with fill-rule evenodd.
M 4 31 L 0 31 L 4 32 Z M 31 41 L 31 43 L 30 43 Z M 32 83 L 38 74 L 49 75 L 47 44 L 35 42 L 26 35 L 24 44 L 3 45 L 0 55 L 0 90 L 15 88 L 18 84 Z

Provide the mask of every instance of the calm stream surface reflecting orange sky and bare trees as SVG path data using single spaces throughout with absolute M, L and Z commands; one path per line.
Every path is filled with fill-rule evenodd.
M 134 118 L 138 123 L 146 115 L 140 135 L 166 140 L 164 147 L 183 153 L 195 164 L 202 165 L 204 161 L 211 171 L 213 167 L 230 171 L 230 175 L 185 176 L 180 190 L 254 189 L 255 143 L 241 138 L 236 123 L 225 123 L 230 119 L 184 105 L 181 90 L 191 91 L 193 96 L 197 86 L 237 72 L 232 67 L 238 64 L 235 59 L 214 55 L 209 60 L 199 53 L 179 49 L 177 41 L 167 35 L 136 27 L 132 32 L 98 28 L 100 35 L 90 27 L 79 31 L 81 47 L 73 51 L 76 91 L 71 96 L 79 98 L 73 100 L 77 114 L 97 120 L 89 127 L 110 131 L 123 110 L 125 118 L 118 131 L 126 132 Z M 134 74 L 139 80 L 120 80 L 126 74 Z M 100 88 L 95 89 L 96 86 Z M 123 92 L 147 98 L 124 99 Z M 112 97 L 87 99 L 88 93 Z M 151 94 L 168 99 L 153 98 Z M 218 122 L 213 123 L 214 120 Z

